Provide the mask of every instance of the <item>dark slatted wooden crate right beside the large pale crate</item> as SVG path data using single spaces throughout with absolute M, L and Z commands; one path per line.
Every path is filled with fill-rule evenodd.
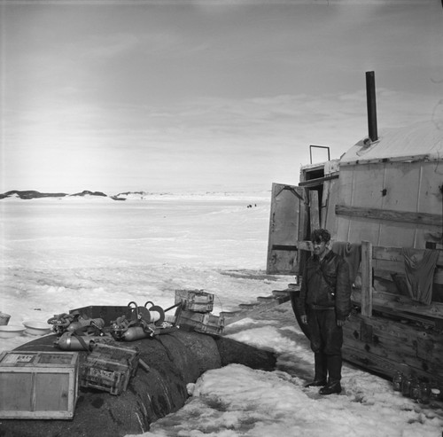
M 121 394 L 136 374 L 138 355 L 137 348 L 97 343 L 82 365 L 80 385 Z

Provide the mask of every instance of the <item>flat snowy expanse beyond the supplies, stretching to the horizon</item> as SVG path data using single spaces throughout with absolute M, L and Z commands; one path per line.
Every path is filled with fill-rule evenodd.
M 12 315 L 10 324 L 79 303 L 152 300 L 167 308 L 180 288 L 215 293 L 219 312 L 245 299 L 245 280 L 231 270 L 265 269 L 266 194 L 4 199 L 0 207 L 0 310 Z M 253 284 L 251 298 L 272 289 Z

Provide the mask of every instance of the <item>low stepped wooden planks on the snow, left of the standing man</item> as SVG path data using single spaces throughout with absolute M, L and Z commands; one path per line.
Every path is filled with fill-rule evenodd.
M 236 311 L 221 311 L 224 325 L 234 324 L 246 317 L 257 316 L 263 311 L 272 309 L 291 299 L 291 292 L 299 291 L 299 285 L 289 284 L 285 290 L 274 290 L 270 296 L 260 296 L 256 302 L 241 303 Z

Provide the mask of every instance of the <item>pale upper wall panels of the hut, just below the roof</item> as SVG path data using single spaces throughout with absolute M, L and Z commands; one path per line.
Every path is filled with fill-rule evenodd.
M 407 222 L 402 214 L 442 216 L 443 177 L 439 171 L 443 174 L 443 164 L 439 164 L 386 161 L 340 166 L 337 205 L 346 207 L 348 215 L 336 215 L 330 229 L 338 240 L 367 240 L 377 246 L 425 248 L 427 241 L 441 244 L 443 218 L 433 224 Z M 359 214 L 353 215 L 353 210 Z M 370 214 L 373 210 L 392 214 L 375 219 Z

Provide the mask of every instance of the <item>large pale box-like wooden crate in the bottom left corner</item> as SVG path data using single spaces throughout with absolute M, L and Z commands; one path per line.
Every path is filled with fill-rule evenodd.
M 78 373 L 76 352 L 2 353 L 0 418 L 73 418 Z

